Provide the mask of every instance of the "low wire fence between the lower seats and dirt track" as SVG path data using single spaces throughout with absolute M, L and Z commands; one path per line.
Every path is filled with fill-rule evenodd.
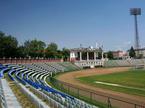
M 103 106 L 103 108 L 145 108 L 143 103 L 138 104 L 137 102 L 129 101 L 122 97 L 114 98 L 114 96 L 102 94 L 102 92 L 96 92 L 83 87 L 80 88 L 55 78 L 50 78 L 50 81 L 56 88 L 94 105 Z

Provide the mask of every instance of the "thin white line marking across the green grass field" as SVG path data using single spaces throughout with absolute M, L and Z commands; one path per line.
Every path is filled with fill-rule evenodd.
M 101 82 L 101 81 L 95 81 L 95 83 L 102 84 L 102 85 L 109 85 L 109 86 L 115 86 L 115 87 L 122 87 L 122 88 L 129 88 L 129 89 L 145 91 L 145 89 L 143 89 L 143 88 L 124 86 L 124 85 L 114 84 L 114 83 L 107 83 L 107 82 Z

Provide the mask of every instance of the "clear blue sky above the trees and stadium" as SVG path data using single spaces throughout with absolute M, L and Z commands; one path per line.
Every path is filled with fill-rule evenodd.
M 0 31 L 19 44 L 39 39 L 59 48 L 96 47 L 127 50 L 134 45 L 134 17 L 141 8 L 138 28 L 145 47 L 145 0 L 0 0 Z

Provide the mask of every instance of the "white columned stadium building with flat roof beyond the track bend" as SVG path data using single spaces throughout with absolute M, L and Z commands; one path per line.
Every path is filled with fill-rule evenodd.
M 74 48 L 70 50 L 70 61 L 82 67 L 102 66 L 101 48 Z

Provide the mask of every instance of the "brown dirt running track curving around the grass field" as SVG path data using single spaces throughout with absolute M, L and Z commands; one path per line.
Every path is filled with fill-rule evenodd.
M 78 77 L 85 77 L 85 76 L 92 76 L 92 75 L 99 75 L 99 74 L 109 74 L 109 73 L 115 73 L 115 72 L 124 72 L 124 71 L 127 71 L 128 69 L 129 69 L 128 67 L 87 69 L 87 70 L 80 70 L 80 71 L 75 71 L 71 73 L 65 73 L 65 74 L 59 75 L 57 79 L 66 83 L 76 85 L 80 88 L 83 87 L 86 89 L 91 89 L 95 91 L 96 93 L 103 94 L 112 98 L 128 101 L 131 103 L 141 104 L 145 106 L 144 97 L 129 95 L 129 94 L 115 92 L 115 91 L 102 89 L 102 88 L 97 88 L 94 86 L 83 84 L 76 80 L 76 78 Z

